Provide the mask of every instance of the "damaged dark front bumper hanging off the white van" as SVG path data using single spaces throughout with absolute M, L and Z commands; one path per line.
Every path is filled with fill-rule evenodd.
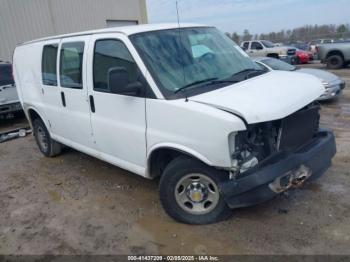
M 320 130 L 297 151 L 279 152 L 242 177 L 222 182 L 219 188 L 230 208 L 256 205 L 300 186 L 307 178 L 319 177 L 331 165 L 335 153 L 333 133 Z

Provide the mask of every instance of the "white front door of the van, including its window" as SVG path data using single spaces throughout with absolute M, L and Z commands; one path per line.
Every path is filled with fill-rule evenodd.
M 88 63 L 91 124 L 104 160 L 144 175 L 146 102 L 142 90 L 128 93 L 124 89 L 125 82 L 142 89 L 142 74 L 125 38 L 115 33 L 92 36 Z

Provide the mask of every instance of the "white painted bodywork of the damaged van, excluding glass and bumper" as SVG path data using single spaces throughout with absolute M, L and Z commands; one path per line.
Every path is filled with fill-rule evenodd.
M 198 25 L 186 25 L 194 27 Z M 323 93 L 316 78 L 272 72 L 186 99 L 165 100 L 127 35 L 177 28 L 144 25 L 56 36 L 20 45 L 14 53 L 14 77 L 28 117 L 35 110 L 51 136 L 65 145 L 145 177 L 149 159 L 160 148 L 192 155 L 210 166 L 232 165 L 229 137 L 256 123 L 287 116 Z M 183 26 L 185 27 L 185 26 Z M 156 98 L 146 99 L 93 90 L 92 63 L 97 39 L 115 38 L 129 49 Z M 83 89 L 67 90 L 42 84 L 43 46 L 85 41 Z M 57 60 L 59 81 L 59 59 Z M 286 82 L 289 79 L 289 82 Z M 80 92 L 78 92 L 80 91 Z M 61 102 L 66 95 L 67 107 Z M 259 95 L 257 95 L 259 94 Z M 89 96 L 95 99 L 91 112 Z M 79 101 L 78 101 L 79 100 Z M 242 119 L 240 119 L 242 118 Z

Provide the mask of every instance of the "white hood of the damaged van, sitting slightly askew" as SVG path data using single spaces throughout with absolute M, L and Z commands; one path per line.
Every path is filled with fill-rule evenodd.
M 321 81 L 312 75 L 272 71 L 189 100 L 232 112 L 253 124 L 284 118 L 324 91 Z

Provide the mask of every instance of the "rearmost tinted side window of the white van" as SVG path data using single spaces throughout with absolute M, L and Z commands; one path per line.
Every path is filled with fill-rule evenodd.
M 43 85 L 57 86 L 57 50 L 58 45 L 45 45 L 41 61 Z

